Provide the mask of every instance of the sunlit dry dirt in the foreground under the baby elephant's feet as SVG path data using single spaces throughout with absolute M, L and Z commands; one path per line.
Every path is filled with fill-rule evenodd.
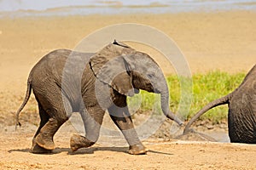
M 148 154 L 131 156 L 127 146 L 96 144 L 72 153 L 69 133 L 56 135 L 50 155 L 29 152 L 32 133 L 2 133 L 1 169 L 255 169 L 256 146 L 158 139 L 143 142 Z

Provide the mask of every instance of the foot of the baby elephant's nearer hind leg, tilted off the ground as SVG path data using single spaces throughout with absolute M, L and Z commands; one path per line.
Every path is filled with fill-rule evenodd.
M 45 150 L 54 150 L 55 149 L 55 143 L 52 139 L 52 137 L 49 137 L 49 135 L 44 133 L 39 133 L 36 137 L 36 143 L 44 148 Z

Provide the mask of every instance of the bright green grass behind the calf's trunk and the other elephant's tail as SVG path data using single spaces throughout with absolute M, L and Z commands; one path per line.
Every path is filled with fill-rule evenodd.
M 206 74 L 195 74 L 192 77 L 193 86 L 192 86 L 192 102 L 189 108 L 189 113 L 183 115 L 189 119 L 191 116 L 195 115 L 197 111 L 200 111 L 201 108 L 207 105 L 214 99 L 218 99 L 226 94 L 230 94 L 234 89 L 236 89 L 242 82 L 246 73 L 240 72 L 236 74 L 229 74 L 221 71 L 211 71 Z M 183 114 L 183 108 L 188 105 L 181 105 L 180 99 L 181 94 L 185 91 L 185 93 L 190 93 L 189 88 L 185 86 L 183 91 L 181 91 L 181 85 L 179 78 L 176 75 L 172 75 L 166 77 L 166 81 L 169 85 L 170 90 L 170 108 L 172 111 L 179 111 L 180 114 Z M 188 92 L 186 92 L 188 91 Z M 187 94 L 183 94 L 183 99 L 189 97 Z M 186 104 L 189 104 L 189 100 Z M 132 105 L 137 105 L 139 111 L 152 111 L 152 109 L 156 108 L 156 113 L 160 114 L 160 95 L 158 94 L 150 94 L 145 91 L 141 91 L 141 94 L 136 95 L 133 98 L 128 99 L 128 104 L 132 107 Z M 178 109 L 179 108 L 179 109 Z M 221 122 L 223 119 L 227 118 L 228 106 L 218 106 L 210 111 L 207 111 L 206 114 L 201 116 L 201 120 L 210 120 L 214 123 Z

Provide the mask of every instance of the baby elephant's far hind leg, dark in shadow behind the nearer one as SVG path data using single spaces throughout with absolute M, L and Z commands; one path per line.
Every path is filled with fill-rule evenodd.
M 40 133 L 41 128 L 44 127 L 44 125 L 49 121 L 49 115 L 46 113 L 46 111 L 44 111 L 44 109 L 42 108 L 42 105 L 40 105 L 39 102 L 38 102 L 38 109 L 39 109 L 39 115 L 40 115 L 41 121 L 40 121 L 38 130 L 32 139 L 31 151 L 32 151 L 32 153 L 49 153 L 50 150 L 46 150 L 46 149 L 42 148 L 36 142 L 36 137 L 38 136 L 38 133 Z

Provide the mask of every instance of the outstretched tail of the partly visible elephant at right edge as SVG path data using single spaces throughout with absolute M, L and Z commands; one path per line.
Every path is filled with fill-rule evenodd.
M 198 111 L 195 116 L 193 116 L 190 121 L 188 122 L 188 124 L 186 125 L 186 127 L 184 128 L 183 134 L 185 133 L 189 133 L 189 127 L 191 127 L 192 123 L 195 122 L 196 119 L 198 119 L 202 114 L 204 114 L 205 112 L 209 111 L 210 109 L 212 109 L 213 107 L 216 107 L 218 105 L 225 105 L 225 104 L 229 104 L 230 103 L 230 99 L 231 99 L 231 94 L 228 94 L 220 99 L 216 99 L 214 101 L 212 101 L 211 103 L 209 103 L 208 105 L 204 106 L 201 111 Z

